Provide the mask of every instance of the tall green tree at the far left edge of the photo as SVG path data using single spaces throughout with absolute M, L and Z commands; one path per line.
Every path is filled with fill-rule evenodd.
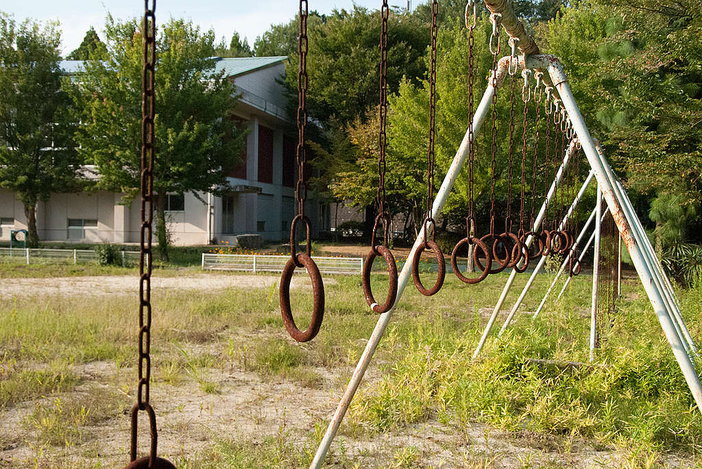
M 0 187 L 22 201 L 31 247 L 39 244 L 37 202 L 79 189 L 60 43 L 58 23 L 18 24 L 0 12 Z

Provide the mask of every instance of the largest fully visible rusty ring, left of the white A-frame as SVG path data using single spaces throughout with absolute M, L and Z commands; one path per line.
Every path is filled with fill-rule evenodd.
M 290 337 L 298 342 L 307 342 L 314 339 L 314 336 L 319 332 L 319 327 L 322 326 L 322 319 L 324 319 L 324 283 L 322 283 L 322 274 L 319 273 L 317 264 L 314 264 L 312 257 L 300 252 L 298 253 L 297 261 L 307 269 L 307 274 L 312 280 L 314 302 L 312 304 L 310 325 L 304 332 L 300 331 L 293 319 L 290 307 L 290 280 L 293 278 L 296 266 L 296 262 L 293 259 L 288 259 L 283 268 L 282 276 L 280 276 L 280 313 L 283 316 L 283 323 Z

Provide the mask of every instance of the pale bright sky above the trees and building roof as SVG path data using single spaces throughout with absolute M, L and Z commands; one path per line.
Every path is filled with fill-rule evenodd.
M 411 0 L 414 7 L 426 0 Z M 406 6 L 406 0 L 390 0 L 391 6 Z M 354 4 L 366 8 L 379 8 L 380 0 L 309 0 L 310 11 L 329 13 L 334 8 L 352 8 Z M 105 16 L 112 13 L 115 18 L 131 18 L 143 14 L 143 1 L 114 0 L 0 0 L 0 11 L 14 15 L 15 20 L 59 20 L 62 29 L 62 50 L 67 55 L 77 48 L 86 31 L 95 27 L 101 39 Z M 173 16 L 186 18 L 201 29 L 215 30 L 219 40 L 226 36 L 227 43 L 232 32 L 253 41 L 270 25 L 288 22 L 298 11 L 297 0 L 159 0 L 156 2 L 157 23 Z

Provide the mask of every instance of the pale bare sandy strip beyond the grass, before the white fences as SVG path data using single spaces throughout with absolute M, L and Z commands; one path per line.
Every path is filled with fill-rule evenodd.
M 280 281 L 280 276 L 261 275 L 208 275 L 159 277 L 153 276 L 154 290 L 227 290 L 227 288 L 270 287 Z M 309 284 L 307 276 L 295 276 L 292 288 Z M 324 283 L 336 283 L 333 278 L 324 278 Z M 41 294 L 92 294 L 137 293 L 139 280 L 134 276 L 86 276 L 57 278 L 4 278 L 0 283 L 0 297 L 15 297 Z

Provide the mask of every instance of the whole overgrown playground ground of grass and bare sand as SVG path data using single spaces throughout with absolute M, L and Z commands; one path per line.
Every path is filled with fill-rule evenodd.
M 42 266 L 34 269 L 41 273 Z M 117 285 L 133 278 L 131 271 L 62 278 Z M 665 339 L 641 334 L 657 325 L 631 271 L 597 365 L 529 361 L 588 360 L 590 314 L 578 306 L 590 295 L 588 273 L 562 299 L 548 301 L 536 320 L 529 318 L 554 271 L 538 276 L 514 329 L 486 346 L 477 362 L 465 355 L 489 318 L 485 305 L 508 276 L 491 276 L 470 291 L 450 277 L 431 298 L 408 290 L 326 467 L 698 464 L 702 418 L 681 392 L 684 381 Z M 277 276 L 182 269 L 158 276 L 173 282 L 154 282 L 153 291 L 154 308 L 163 311 L 154 318 L 160 333 L 152 344 L 158 370 L 152 398 L 163 422 L 159 454 L 179 468 L 306 467 L 377 319 L 357 294 L 359 276 L 324 278 L 326 327 L 305 344 L 282 328 Z M 380 292 L 384 279 L 373 274 Z M 9 280 L 20 279 L 4 285 Z M 0 300 L 6 318 L 0 335 L 8 344 L 0 464 L 121 467 L 135 372 L 133 293 L 112 290 L 108 299 L 93 287 L 42 291 L 39 284 L 52 285 L 53 278 L 22 280 L 35 282 L 29 294 Z M 304 288 L 291 294 L 294 306 L 309 306 Z M 695 334 L 700 297 L 701 290 L 681 296 Z

